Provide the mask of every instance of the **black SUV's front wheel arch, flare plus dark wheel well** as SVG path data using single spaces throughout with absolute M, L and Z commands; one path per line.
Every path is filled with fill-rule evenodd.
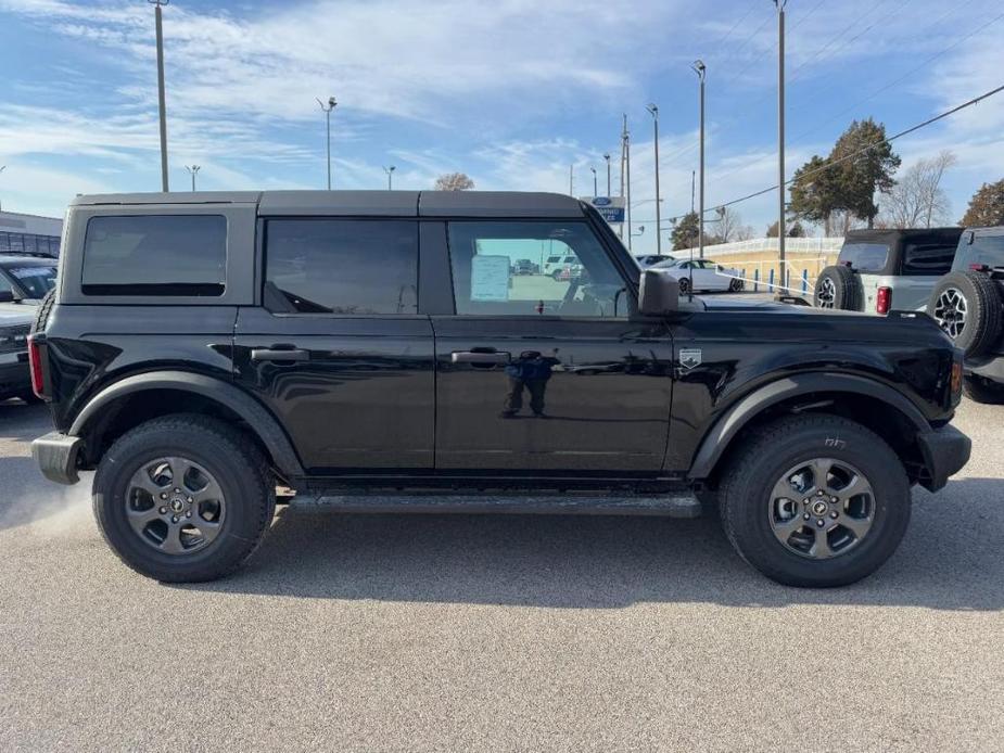
M 809 410 L 857 420 L 886 439 L 904 463 L 924 463 L 916 435 L 931 426 L 908 398 L 865 376 L 809 373 L 778 379 L 739 398 L 706 432 L 689 477 L 712 478 L 744 431 L 778 414 Z M 912 475 L 918 477 L 918 472 Z

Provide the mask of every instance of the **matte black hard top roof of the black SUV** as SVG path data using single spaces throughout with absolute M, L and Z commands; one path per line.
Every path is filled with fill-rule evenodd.
M 523 191 L 178 191 L 77 196 L 73 206 L 257 204 L 263 216 L 582 217 L 560 193 Z

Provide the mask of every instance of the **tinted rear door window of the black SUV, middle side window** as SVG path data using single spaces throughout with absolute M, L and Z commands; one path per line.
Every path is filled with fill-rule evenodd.
M 266 298 L 274 293 L 284 310 L 418 311 L 418 222 L 274 219 L 265 258 Z

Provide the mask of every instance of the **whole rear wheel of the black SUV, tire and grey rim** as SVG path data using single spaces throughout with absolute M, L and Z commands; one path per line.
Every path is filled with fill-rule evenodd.
M 140 424 L 105 452 L 93 507 L 105 540 L 139 573 L 212 580 L 257 548 L 275 513 L 275 481 L 247 438 L 201 416 Z

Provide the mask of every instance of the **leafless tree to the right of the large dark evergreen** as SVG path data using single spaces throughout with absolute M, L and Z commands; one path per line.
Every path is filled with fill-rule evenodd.
M 884 202 L 881 225 L 890 228 L 929 228 L 949 221 L 951 205 L 941 188 L 944 171 L 958 161 L 943 150 L 920 159 L 892 187 Z

